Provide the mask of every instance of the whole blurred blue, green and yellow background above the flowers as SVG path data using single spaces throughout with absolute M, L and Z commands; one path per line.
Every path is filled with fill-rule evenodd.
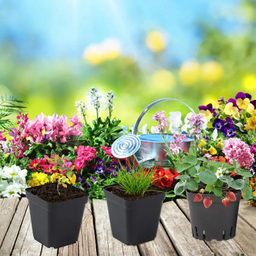
M 195 110 L 238 91 L 256 98 L 255 10 L 254 0 L 0 0 L 0 94 L 28 101 L 32 119 L 72 116 L 90 87 L 112 90 L 127 126 L 164 97 Z M 165 102 L 142 123 L 163 109 L 188 112 Z

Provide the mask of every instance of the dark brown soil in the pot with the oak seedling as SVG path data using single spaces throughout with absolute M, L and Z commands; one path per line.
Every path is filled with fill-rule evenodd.
M 28 188 L 27 190 L 31 194 L 43 199 L 48 203 L 59 203 L 89 195 L 86 191 L 81 189 L 77 189 L 73 186 L 67 186 L 67 188 L 64 188 L 61 184 L 59 185 L 59 195 L 57 191 L 57 182 Z

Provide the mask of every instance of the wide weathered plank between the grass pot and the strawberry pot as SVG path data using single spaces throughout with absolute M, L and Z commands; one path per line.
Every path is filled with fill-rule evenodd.
M 180 255 L 214 255 L 204 241 L 191 236 L 190 222 L 173 201 L 163 204 L 161 221 Z

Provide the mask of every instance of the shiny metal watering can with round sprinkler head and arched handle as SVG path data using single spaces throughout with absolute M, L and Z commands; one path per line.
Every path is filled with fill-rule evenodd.
M 170 163 L 167 160 L 165 154 L 165 144 L 160 133 L 149 133 L 137 135 L 138 126 L 142 117 L 146 114 L 149 108 L 153 107 L 159 102 L 165 100 L 175 100 L 184 104 L 189 108 L 192 113 L 195 111 L 189 107 L 186 103 L 177 99 L 161 99 L 149 104 L 140 114 L 134 128 L 133 134 L 123 135 L 116 139 L 111 146 L 111 152 L 113 156 L 117 158 L 127 158 L 129 157 L 130 162 L 135 162 L 138 165 L 143 164 L 143 167 L 152 167 L 154 165 L 160 167 L 170 167 Z M 168 143 L 173 140 L 172 134 L 165 134 L 165 139 Z M 193 138 L 187 136 L 187 140 L 183 140 L 179 147 L 188 152 L 190 145 L 193 143 Z

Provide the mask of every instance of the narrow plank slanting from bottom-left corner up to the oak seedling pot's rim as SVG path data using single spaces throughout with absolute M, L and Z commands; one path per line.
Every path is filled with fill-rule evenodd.
M 9 199 L 4 199 L 9 200 Z M 12 222 L 9 226 L 9 229 L 4 237 L 3 244 L 0 248 L 0 255 L 11 255 L 12 248 L 15 244 L 16 237 L 18 236 L 22 220 L 24 218 L 25 212 L 28 208 L 27 198 L 21 198 L 20 203 L 18 204 L 17 210 L 14 213 Z

